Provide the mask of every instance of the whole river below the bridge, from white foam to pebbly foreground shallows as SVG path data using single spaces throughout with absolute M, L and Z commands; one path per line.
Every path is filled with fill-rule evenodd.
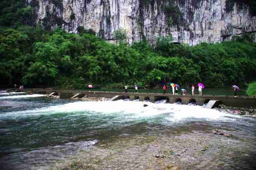
M 88 155 L 98 155 L 101 162 L 90 160 L 96 169 L 162 169 L 171 165 L 181 169 L 253 169 L 255 124 L 253 117 L 202 106 L 0 93 L 0 165 L 3 169 L 50 169 L 64 164 L 59 161 L 81 158 L 78 153 L 83 151 L 86 161 Z M 215 129 L 231 138 L 213 135 Z M 161 157 L 164 148 L 170 151 L 168 157 L 154 155 Z M 170 154 L 171 150 L 175 154 Z M 124 153 L 126 157 L 106 159 Z M 134 162 L 134 155 L 138 156 L 136 166 L 127 165 L 128 160 Z

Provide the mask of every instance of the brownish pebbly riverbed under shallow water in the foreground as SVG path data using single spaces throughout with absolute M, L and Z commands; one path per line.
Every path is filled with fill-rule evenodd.
M 173 132 L 169 135 L 161 135 L 161 132 L 159 136 L 122 134 L 118 138 L 109 136 L 99 142 L 70 142 L 64 146 L 10 155 L 5 161 L 10 167 L 22 161 L 21 169 L 54 170 L 256 168 L 255 142 L 252 144 L 235 134 L 231 137 L 215 135 L 213 131 L 207 131 L 204 125 L 202 131 L 193 131 L 193 126 L 189 128 L 190 132 Z M 223 129 L 219 131 L 232 133 Z

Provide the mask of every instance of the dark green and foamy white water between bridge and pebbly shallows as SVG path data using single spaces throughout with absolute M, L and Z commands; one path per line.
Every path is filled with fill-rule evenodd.
M 256 144 L 253 118 L 165 102 L 147 102 L 144 107 L 144 102 L 129 100 L 88 102 L 0 94 L 0 164 L 13 159 L 17 168 L 23 160 L 20 153 L 29 155 L 41 150 L 54 153 L 57 146 L 74 150 L 97 142 L 108 145 L 120 136 L 167 137 L 222 129 L 235 134 L 237 140 L 246 139 L 248 146 Z M 255 148 L 250 148 L 249 156 L 255 153 Z M 56 151 L 55 157 L 63 158 L 65 154 L 66 151 Z M 33 161 L 31 158 L 31 164 L 36 166 L 39 160 Z M 24 168 L 32 165 L 24 164 Z

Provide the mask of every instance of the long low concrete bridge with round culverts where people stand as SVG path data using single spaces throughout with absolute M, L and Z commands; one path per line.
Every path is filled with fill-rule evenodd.
M 167 103 L 181 102 L 182 104 L 196 103 L 197 105 L 203 105 L 208 103 L 210 100 L 221 101 L 221 104 L 231 107 L 256 107 L 256 98 L 241 96 L 214 96 L 214 95 L 172 95 L 172 94 L 161 94 L 161 93 L 134 93 L 134 92 L 114 92 L 114 91 L 82 91 L 82 90 L 43 90 L 44 94 L 51 94 L 52 92 L 58 92 L 60 99 L 68 99 L 76 94 L 82 94 L 78 96 L 89 96 L 89 97 L 105 97 L 113 98 L 119 96 L 119 99 L 127 99 L 139 101 L 149 100 L 154 102 L 157 100 L 166 99 Z

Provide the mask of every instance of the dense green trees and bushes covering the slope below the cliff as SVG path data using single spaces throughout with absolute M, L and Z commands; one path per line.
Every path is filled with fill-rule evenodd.
M 128 46 L 125 30 L 117 30 L 117 44 L 110 44 L 92 29 L 78 27 L 79 34 L 70 34 L 33 26 L 33 8 L 25 3 L 4 0 L 0 5 L 0 76 L 5 87 L 153 87 L 165 82 L 225 87 L 256 79 L 251 35 L 194 47 L 158 37 L 151 47 L 145 40 Z M 169 24 L 173 19 L 170 15 Z

